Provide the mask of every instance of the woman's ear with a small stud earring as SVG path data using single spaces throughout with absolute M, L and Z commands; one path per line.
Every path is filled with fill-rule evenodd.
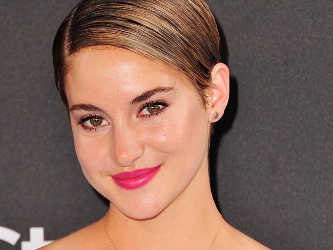
M 209 93 L 209 121 L 218 121 L 225 110 L 229 99 L 229 69 L 225 64 L 218 63 L 211 72 L 212 87 Z M 218 114 L 217 114 L 218 113 Z

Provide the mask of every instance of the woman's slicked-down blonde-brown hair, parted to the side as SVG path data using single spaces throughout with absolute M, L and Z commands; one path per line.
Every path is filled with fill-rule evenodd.
M 203 105 L 211 70 L 221 61 L 215 18 L 202 0 L 82 0 L 53 41 L 55 83 L 67 109 L 69 59 L 89 46 L 127 49 L 182 71 Z

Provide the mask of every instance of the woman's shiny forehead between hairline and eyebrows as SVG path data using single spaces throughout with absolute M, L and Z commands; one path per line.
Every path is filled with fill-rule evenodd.
M 79 99 L 99 92 L 110 97 L 121 94 L 123 98 L 131 98 L 158 86 L 194 89 L 185 74 L 159 60 L 101 46 L 82 49 L 72 56 L 65 82 L 69 103 L 86 101 Z

